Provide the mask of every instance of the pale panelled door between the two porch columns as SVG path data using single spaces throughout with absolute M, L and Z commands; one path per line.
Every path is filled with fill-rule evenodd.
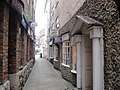
M 83 90 L 93 89 L 93 70 L 92 70 L 92 41 L 90 36 L 85 35 L 83 37 Z

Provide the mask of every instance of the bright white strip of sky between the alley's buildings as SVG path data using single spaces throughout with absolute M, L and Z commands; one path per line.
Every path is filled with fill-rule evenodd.
M 38 26 L 35 28 L 35 35 L 39 36 L 40 30 L 45 28 L 46 16 L 44 13 L 46 0 L 37 0 L 36 10 L 35 10 L 35 22 Z

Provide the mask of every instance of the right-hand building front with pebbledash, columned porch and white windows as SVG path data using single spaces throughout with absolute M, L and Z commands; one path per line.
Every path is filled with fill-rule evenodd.
M 53 65 L 78 89 L 120 88 L 119 3 L 50 0 L 49 46 Z

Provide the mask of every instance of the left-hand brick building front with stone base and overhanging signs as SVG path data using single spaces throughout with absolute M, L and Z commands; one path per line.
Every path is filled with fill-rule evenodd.
M 35 35 L 29 23 L 34 22 L 34 10 L 27 19 L 26 4 L 25 0 L 0 2 L 0 90 L 22 90 L 35 61 Z

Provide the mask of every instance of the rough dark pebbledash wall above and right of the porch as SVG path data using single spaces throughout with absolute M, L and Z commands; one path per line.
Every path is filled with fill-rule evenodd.
M 103 23 L 105 90 L 120 89 L 120 19 L 113 0 L 86 0 L 77 14 Z

